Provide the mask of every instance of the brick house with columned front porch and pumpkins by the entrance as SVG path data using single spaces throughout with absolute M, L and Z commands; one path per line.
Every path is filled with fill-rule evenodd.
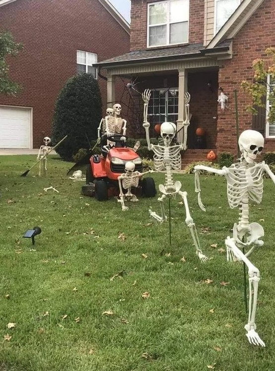
M 130 53 L 97 66 L 107 71 L 108 101 L 114 100 L 112 87 L 121 75 L 131 78 L 138 92 L 151 89 L 153 124 L 173 121 L 180 129 L 189 91 L 189 148 L 196 148 L 195 131 L 203 127 L 205 149 L 188 149 L 184 157 L 202 159 L 209 149 L 237 152 L 234 90 L 240 132 L 260 130 L 266 150 L 275 149 L 275 124 L 246 112 L 251 101 L 240 88 L 242 80 L 252 81 L 252 61 L 265 58 L 270 46 L 275 46 L 275 0 L 132 0 Z M 225 110 L 217 102 L 221 89 L 228 97 Z

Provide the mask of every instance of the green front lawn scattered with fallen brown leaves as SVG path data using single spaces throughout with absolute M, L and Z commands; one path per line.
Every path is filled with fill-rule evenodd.
M 50 157 L 48 178 L 39 178 L 36 168 L 24 178 L 35 156 L 0 156 L 0 370 L 274 370 L 270 179 L 262 204 L 251 207 L 251 222 L 266 233 L 264 247 L 251 256 L 262 277 L 256 323 L 263 349 L 245 337 L 242 265 L 227 263 L 219 250 L 238 218 L 228 207 L 223 178 L 201 177 L 203 213 L 194 176 L 175 175 L 188 192 L 202 249 L 212 258 L 201 263 L 180 199 L 171 201 L 170 246 L 168 223 L 149 219 L 149 207 L 159 212 L 157 197 L 140 198 L 122 212 L 114 198 L 100 203 L 82 197 L 82 183 L 66 176 L 71 164 Z M 164 181 L 163 174 L 153 177 Z M 60 193 L 43 191 L 51 185 Z M 22 236 L 34 226 L 42 233 L 32 246 Z M 8 323 L 16 325 L 8 329 Z

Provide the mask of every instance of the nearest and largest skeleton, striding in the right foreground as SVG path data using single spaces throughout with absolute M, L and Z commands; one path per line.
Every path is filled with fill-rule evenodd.
M 195 187 L 198 193 L 198 201 L 202 210 L 205 207 L 201 201 L 201 189 L 198 170 L 206 170 L 218 175 L 224 175 L 227 180 L 227 198 L 231 209 L 238 207 L 240 217 L 238 223 L 234 224 L 233 237 L 227 237 L 225 245 L 227 249 L 227 261 L 243 261 L 248 267 L 249 275 L 249 314 L 248 323 L 245 325 L 246 336 L 249 343 L 265 347 L 256 332 L 256 307 L 260 272 L 248 256 L 257 247 L 262 247 L 264 242 L 264 229 L 258 223 L 249 223 L 249 201 L 260 204 L 263 196 L 263 174 L 266 172 L 275 183 L 275 175 L 265 162 L 255 163 L 255 159 L 261 154 L 264 147 L 264 137 L 256 130 L 245 130 L 239 137 L 241 158 L 239 163 L 221 170 L 213 169 L 204 165 L 195 166 Z M 243 248 L 249 248 L 246 253 Z

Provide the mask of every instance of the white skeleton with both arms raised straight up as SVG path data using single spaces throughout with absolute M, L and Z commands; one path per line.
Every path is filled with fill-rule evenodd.
M 183 143 L 181 144 L 172 144 L 172 140 L 176 135 L 176 125 L 174 123 L 163 123 L 160 126 L 160 135 L 162 138 L 161 144 L 151 144 L 150 137 L 149 137 L 149 126 L 150 124 L 147 121 L 147 112 L 148 112 L 148 103 L 150 100 L 151 92 L 149 89 L 146 89 L 142 93 L 142 99 L 144 102 L 144 110 L 143 110 L 143 127 L 145 128 L 146 133 L 146 140 L 148 144 L 148 150 L 152 150 L 154 152 L 153 159 L 154 159 L 154 166 L 156 171 L 165 171 L 165 184 L 159 185 L 159 191 L 162 195 L 158 198 L 158 202 L 160 202 L 161 208 L 161 216 L 157 215 L 155 212 L 149 210 L 150 216 L 157 220 L 158 222 L 164 222 L 167 220 L 164 211 L 164 200 L 166 197 L 174 197 L 176 195 L 180 195 L 184 202 L 185 211 L 186 211 L 186 219 L 185 223 L 190 229 L 191 236 L 196 247 L 196 253 L 201 261 L 206 261 L 207 257 L 203 254 L 200 241 L 198 238 L 197 230 L 193 219 L 191 218 L 188 201 L 187 201 L 187 192 L 181 191 L 181 182 L 176 181 L 174 182 L 172 176 L 172 170 L 180 170 L 181 169 L 181 150 L 186 149 L 186 140 L 185 137 Z M 185 93 L 184 96 L 185 102 L 185 114 L 186 120 L 184 125 L 188 127 L 190 124 L 189 122 L 189 102 L 190 102 L 190 94 Z M 187 131 L 186 131 L 187 132 Z

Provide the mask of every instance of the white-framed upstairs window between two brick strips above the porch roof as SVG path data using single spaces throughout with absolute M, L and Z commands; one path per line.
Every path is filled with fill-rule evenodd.
M 189 0 L 166 0 L 148 4 L 147 46 L 188 42 Z

